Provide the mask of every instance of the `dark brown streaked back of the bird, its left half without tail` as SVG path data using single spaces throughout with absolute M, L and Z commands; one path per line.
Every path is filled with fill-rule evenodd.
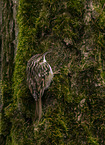
M 38 56 L 33 56 L 27 63 L 27 83 L 31 94 L 33 95 L 35 101 L 39 99 L 39 96 L 43 94 L 43 79 L 39 77 L 39 63 Z

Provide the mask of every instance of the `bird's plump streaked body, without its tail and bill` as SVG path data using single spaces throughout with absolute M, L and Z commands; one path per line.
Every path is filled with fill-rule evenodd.
M 33 56 L 27 63 L 27 82 L 35 101 L 39 96 L 43 96 L 44 90 L 51 82 L 51 67 L 47 62 L 43 62 L 40 56 Z

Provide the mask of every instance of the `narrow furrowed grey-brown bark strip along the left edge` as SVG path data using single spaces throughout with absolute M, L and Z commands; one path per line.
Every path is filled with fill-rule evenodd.
M 13 1 L 1 1 L 1 62 L 2 62 L 2 96 L 0 96 L 0 144 L 5 144 L 11 130 L 11 118 L 8 116 L 12 103 L 12 77 L 14 70 L 15 21 L 13 18 Z M 0 49 L 0 50 L 1 50 Z M 2 98 L 1 98 L 2 97 Z

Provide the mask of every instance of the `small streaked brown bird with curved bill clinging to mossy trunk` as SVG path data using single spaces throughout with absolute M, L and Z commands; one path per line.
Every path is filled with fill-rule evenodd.
M 39 120 L 42 115 L 41 98 L 53 79 L 52 68 L 45 59 L 47 53 L 49 52 L 32 56 L 27 62 L 26 68 L 27 84 L 36 102 L 35 118 L 39 116 Z

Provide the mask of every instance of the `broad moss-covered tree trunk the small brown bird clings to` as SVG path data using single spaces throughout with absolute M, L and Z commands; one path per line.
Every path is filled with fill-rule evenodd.
M 12 102 L 3 109 L 11 122 L 6 144 L 104 145 L 103 5 L 94 0 L 19 1 L 14 91 Z M 42 97 L 43 116 L 38 122 L 26 65 L 31 56 L 48 50 L 52 52 L 46 59 L 59 73 Z

